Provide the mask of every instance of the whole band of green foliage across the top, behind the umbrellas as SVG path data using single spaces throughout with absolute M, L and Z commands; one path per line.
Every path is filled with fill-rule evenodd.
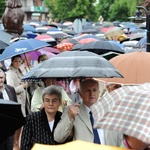
M 133 16 L 136 6 L 145 0 L 45 0 L 53 19 L 73 21 L 86 18 L 97 21 L 100 15 L 104 21 L 127 21 Z

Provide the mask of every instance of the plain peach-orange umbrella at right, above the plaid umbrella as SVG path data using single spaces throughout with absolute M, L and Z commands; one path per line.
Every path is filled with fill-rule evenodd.
M 105 81 L 124 84 L 150 82 L 150 53 L 143 51 L 126 53 L 110 59 L 110 62 L 124 78 L 104 79 Z

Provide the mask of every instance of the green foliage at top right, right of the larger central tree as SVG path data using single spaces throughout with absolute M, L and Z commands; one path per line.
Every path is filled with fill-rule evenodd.
M 127 21 L 133 16 L 136 6 L 145 0 L 99 0 L 97 11 L 107 21 Z

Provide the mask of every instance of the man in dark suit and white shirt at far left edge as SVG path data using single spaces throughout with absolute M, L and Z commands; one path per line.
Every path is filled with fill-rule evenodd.
M 17 102 L 15 89 L 10 85 L 4 84 L 4 82 L 5 82 L 5 73 L 0 69 L 0 99 Z M 14 143 L 14 135 L 11 135 L 4 141 L 0 142 L 0 150 L 13 150 L 13 143 Z

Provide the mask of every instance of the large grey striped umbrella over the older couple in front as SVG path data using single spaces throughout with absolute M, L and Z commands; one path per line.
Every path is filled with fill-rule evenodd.
M 22 79 L 75 77 L 122 77 L 109 61 L 92 52 L 66 51 L 31 69 Z

